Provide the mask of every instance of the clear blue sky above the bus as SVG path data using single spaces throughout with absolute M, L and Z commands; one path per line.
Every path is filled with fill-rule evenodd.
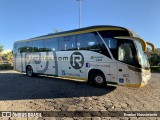
M 160 48 L 160 0 L 82 0 L 81 26 L 115 25 L 134 30 Z M 0 44 L 79 28 L 77 0 L 0 0 Z

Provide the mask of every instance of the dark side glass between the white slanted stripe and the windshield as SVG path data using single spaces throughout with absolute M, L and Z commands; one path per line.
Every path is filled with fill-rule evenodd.
M 104 38 L 104 41 L 115 59 L 130 65 L 137 64 L 136 49 L 131 40 Z

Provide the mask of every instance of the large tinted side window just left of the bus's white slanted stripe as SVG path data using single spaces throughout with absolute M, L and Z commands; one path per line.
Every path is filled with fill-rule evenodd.
M 96 33 L 85 33 L 77 35 L 78 50 L 100 50 L 101 46 L 97 37 L 98 35 Z

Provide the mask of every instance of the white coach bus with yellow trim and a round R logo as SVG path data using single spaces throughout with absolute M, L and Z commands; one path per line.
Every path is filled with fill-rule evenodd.
M 151 78 L 146 42 L 119 26 L 90 26 L 16 41 L 14 69 L 31 77 L 53 75 L 101 87 L 139 88 Z

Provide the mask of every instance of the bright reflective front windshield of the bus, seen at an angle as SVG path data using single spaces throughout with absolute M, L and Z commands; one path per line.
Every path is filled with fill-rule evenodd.
M 137 47 L 139 64 L 141 65 L 141 67 L 143 69 L 149 69 L 150 65 L 149 65 L 149 62 L 148 62 L 148 58 L 147 58 L 147 55 L 143 52 L 140 42 L 135 40 L 135 44 L 136 44 L 136 47 Z

